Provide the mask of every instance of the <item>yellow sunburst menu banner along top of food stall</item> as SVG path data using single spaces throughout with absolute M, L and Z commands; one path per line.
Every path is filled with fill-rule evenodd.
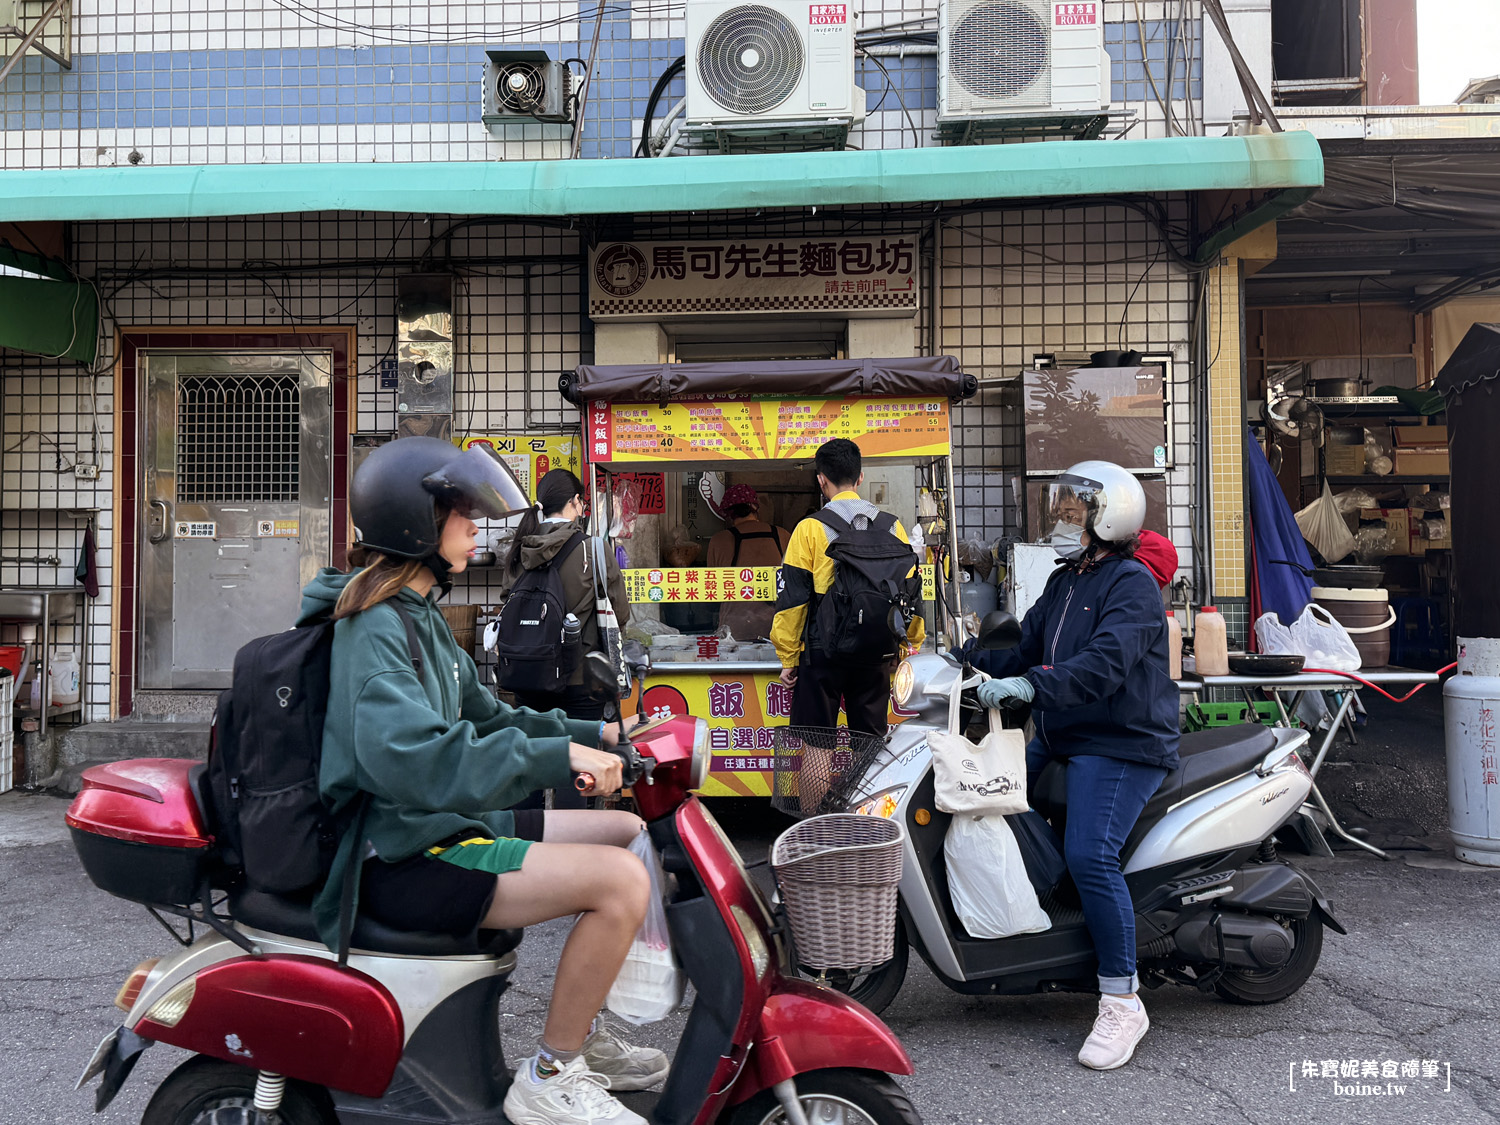
M 592 462 L 780 460 L 808 458 L 831 438 L 866 458 L 950 452 L 946 399 L 735 399 L 670 405 L 594 402 Z

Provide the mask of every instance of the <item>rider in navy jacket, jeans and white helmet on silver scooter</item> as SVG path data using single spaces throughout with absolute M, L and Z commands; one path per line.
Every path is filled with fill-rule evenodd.
M 1048 486 L 1050 542 L 1065 564 L 1006 652 L 970 651 L 993 680 L 986 706 L 1032 705 L 1028 782 L 1048 759 L 1068 762 L 1064 855 L 1100 958 L 1100 1012 L 1078 1062 L 1130 1062 L 1150 1026 L 1136 994 L 1136 910 L 1120 849 L 1142 810 L 1178 766 L 1178 688 L 1168 675 L 1161 590 L 1134 554 L 1146 516 L 1140 483 L 1119 465 L 1086 460 Z

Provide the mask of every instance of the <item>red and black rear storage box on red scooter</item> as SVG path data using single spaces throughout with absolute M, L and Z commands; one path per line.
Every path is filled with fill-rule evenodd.
M 192 792 L 198 762 L 135 758 L 84 770 L 68 828 L 94 886 L 130 902 L 190 906 L 214 866 Z

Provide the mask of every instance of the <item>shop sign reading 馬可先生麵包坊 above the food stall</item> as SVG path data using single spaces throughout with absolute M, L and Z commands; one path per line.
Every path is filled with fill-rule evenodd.
M 604 243 L 590 258 L 588 315 L 915 314 L 916 252 L 912 234 Z

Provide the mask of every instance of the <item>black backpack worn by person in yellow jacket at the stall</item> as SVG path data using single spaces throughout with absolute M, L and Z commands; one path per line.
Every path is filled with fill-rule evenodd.
M 904 632 L 892 632 L 891 609 L 900 609 L 903 622 L 910 621 L 921 596 L 916 555 L 891 530 L 896 516 L 882 512 L 862 528 L 828 508 L 813 519 L 838 532 L 826 548 L 834 582 L 810 616 L 814 644 L 830 660 L 879 664 L 892 658 Z

